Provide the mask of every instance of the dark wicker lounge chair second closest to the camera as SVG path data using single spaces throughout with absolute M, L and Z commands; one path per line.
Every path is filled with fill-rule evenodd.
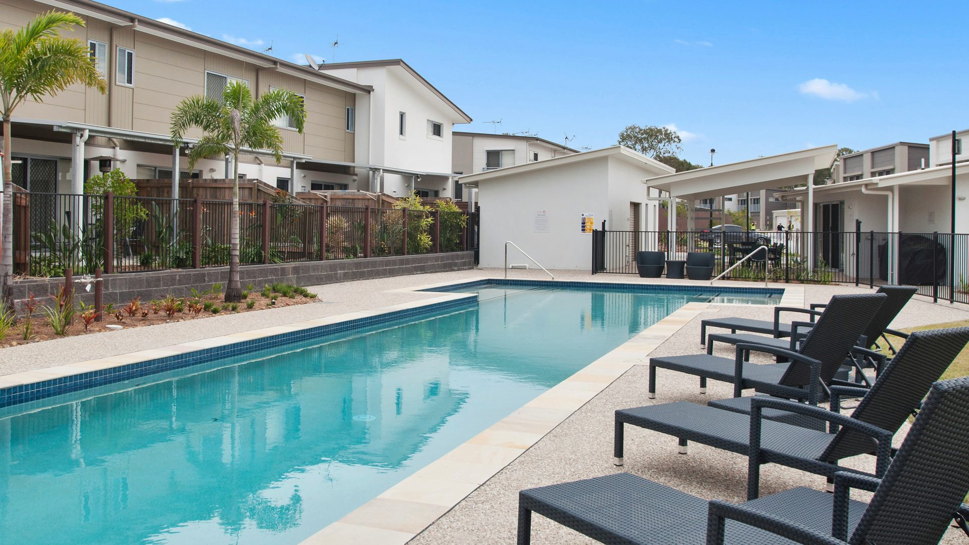
M 888 466 L 891 436 L 918 407 L 932 382 L 953 363 L 969 342 L 969 327 L 916 332 L 887 363 L 870 389 L 831 387 L 831 410 L 794 401 L 757 396 L 743 414 L 687 401 L 615 411 L 616 465 L 622 465 L 623 427 L 632 424 L 679 437 L 680 452 L 694 440 L 737 454 L 749 454 L 748 493 L 757 496 L 760 465 L 776 463 L 832 477 L 843 458 L 878 457 L 876 476 Z M 842 397 L 863 399 L 850 417 L 840 414 Z M 712 403 L 711 403 L 712 404 Z M 826 421 L 831 433 L 767 420 L 768 412 L 802 415 Z M 840 429 L 838 427 L 841 427 Z M 836 431 L 836 433 L 834 433 Z M 751 435 L 753 433 L 753 435 Z

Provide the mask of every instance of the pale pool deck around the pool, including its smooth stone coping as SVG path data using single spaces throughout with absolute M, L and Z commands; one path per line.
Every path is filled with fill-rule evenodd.
M 567 280 L 709 285 L 689 280 L 641 279 L 634 275 L 555 274 L 556 279 Z M 320 303 L 4 348 L 0 350 L 0 374 L 5 376 L 0 381 L 13 379 L 10 373 L 34 374 L 39 369 L 74 366 L 90 360 L 107 358 L 125 362 L 130 359 L 125 355 L 133 350 L 202 346 L 206 344 L 205 339 L 216 340 L 212 337 L 249 338 L 265 331 L 288 329 L 282 326 L 295 327 L 296 322 L 330 322 L 369 314 L 378 308 L 422 305 L 440 300 L 446 294 L 412 291 L 415 287 L 501 275 L 501 270 L 475 270 L 329 284 L 312 288 L 320 294 Z M 510 275 L 547 278 L 541 271 L 519 270 Z M 718 285 L 763 287 L 753 282 Z M 771 287 L 791 288 L 785 294 L 784 304 L 798 306 L 827 302 L 836 293 L 869 291 L 797 284 L 771 284 Z M 700 396 L 694 377 L 661 370 L 658 399 L 646 400 L 647 369 L 642 365 L 648 362 L 648 355 L 700 352 L 697 318 L 724 312 L 729 312 L 725 315 L 769 317 L 766 308 L 759 305 L 685 305 L 579 371 L 571 382 L 566 381 L 521 407 L 491 429 L 318 533 L 311 542 L 514 543 L 518 490 L 619 470 L 610 463 L 612 411 L 616 408 L 730 397 L 730 385 L 711 382 L 709 394 Z M 892 326 L 904 328 L 963 319 L 969 319 L 966 305 L 933 305 L 916 298 Z M 689 456 L 678 456 L 674 439 L 640 430 L 628 433 L 627 444 L 627 464 L 623 468 L 626 471 L 701 497 L 741 500 L 745 493 L 746 459 L 742 457 L 703 445 L 691 449 Z M 654 448 L 647 451 L 643 448 L 646 444 Z M 798 485 L 818 488 L 824 484 L 816 476 L 772 465 L 765 467 L 763 482 L 765 493 Z M 548 524 L 541 517 L 535 520 L 533 535 L 536 543 L 587 541 L 578 533 Z

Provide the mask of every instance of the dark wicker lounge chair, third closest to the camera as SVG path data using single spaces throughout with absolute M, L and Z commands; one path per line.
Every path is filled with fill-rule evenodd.
M 867 319 L 878 310 L 885 294 L 836 295 L 824 313 L 810 327 L 797 351 L 741 343 L 735 358 L 710 354 L 651 358 L 649 360 L 649 399 L 656 398 L 656 369 L 672 369 L 700 377 L 700 389 L 706 392 L 706 380 L 734 383 L 734 397 L 746 388 L 795 400 L 817 403 L 824 388 L 833 379 L 858 342 Z M 795 326 L 798 323 L 795 322 Z M 764 352 L 790 360 L 789 363 L 757 365 L 745 356 L 751 351 Z

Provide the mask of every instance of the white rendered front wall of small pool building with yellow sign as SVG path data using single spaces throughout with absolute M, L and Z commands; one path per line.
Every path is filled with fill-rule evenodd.
M 505 240 L 512 240 L 546 269 L 589 269 L 592 235 L 580 232 L 581 214 L 595 214 L 596 225 L 608 217 L 608 176 L 603 157 L 481 181 L 481 266 L 504 267 Z M 542 210 L 548 232 L 535 233 Z M 509 263 L 527 262 L 510 248 Z

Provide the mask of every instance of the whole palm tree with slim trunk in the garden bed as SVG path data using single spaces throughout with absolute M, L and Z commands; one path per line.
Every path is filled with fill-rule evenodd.
M 254 101 L 249 86 L 241 81 L 226 85 L 221 101 L 197 95 L 183 100 L 172 112 L 174 144 L 181 145 L 185 141 L 185 132 L 192 127 L 203 131 L 199 144 L 189 150 L 189 169 L 206 157 L 232 155 L 234 158 L 227 303 L 242 300 L 239 281 L 239 150 L 243 147 L 266 149 L 279 163 L 283 158 L 283 137 L 273 121 L 284 115 L 289 116 L 301 133 L 306 120 L 302 98 L 286 89 L 273 89 Z

